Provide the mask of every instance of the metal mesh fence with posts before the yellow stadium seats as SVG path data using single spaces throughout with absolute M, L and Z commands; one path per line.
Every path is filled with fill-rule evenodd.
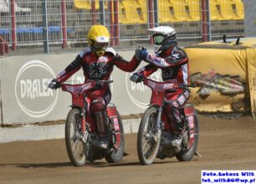
M 243 37 L 243 1 L 0 0 L 0 36 L 10 54 L 79 50 L 95 23 L 109 28 L 117 49 L 149 45 L 146 30 L 158 25 L 175 28 L 180 45 L 187 46 L 223 34 Z

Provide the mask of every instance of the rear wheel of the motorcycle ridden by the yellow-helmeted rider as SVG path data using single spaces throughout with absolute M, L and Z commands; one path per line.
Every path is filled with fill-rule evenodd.
M 124 126 L 123 126 L 123 123 L 122 123 L 122 120 L 120 118 L 120 114 L 118 111 L 117 111 L 117 119 L 118 119 L 118 124 L 120 127 L 120 145 L 117 149 L 115 149 L 105 155 L 105 160 L 108 163 L 119 163 L 122 160 L 124 153 L 125 153 Z

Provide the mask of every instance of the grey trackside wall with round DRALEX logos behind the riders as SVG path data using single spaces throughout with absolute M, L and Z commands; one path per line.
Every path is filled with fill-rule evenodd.
M 134 51 L 119 54 L 130 60 Z M 64 125 L 49 125 L 49 121 L 65 120 L 70 110 L 71 95 L 61 89 L 49 89 L 48 84 L 76 55 L 39 54 L 0 58 L 0 142 L 64 137 Z M 150 102 L 150 89 L 131 82 L 131 74 L 115 67 L 111 75 L 114 80 L 110 86 L 111 103 L 117 106 L 120 115 L 141 114 Z M 82 69 L 67 80 L 69 83 L 83 81 Z M 131 133 L 136 132 L 140 119 L 123 121 L 125 133 Z M 44 125 L 44 122 L 47 124 Z M 13 128 L 13 125 L 19 127 Z

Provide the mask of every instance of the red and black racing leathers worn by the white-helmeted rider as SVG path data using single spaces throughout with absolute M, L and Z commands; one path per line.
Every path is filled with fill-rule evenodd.
M 167 49 L 159 57 L 147 54 L 145 61 L 149 64 L 140 69 L 136 74 L 147 77 L 156 72 L 157 69 L 161 69 L 163 81 L 168 80 L 177 84 L 188 83 L 188 59 L 187 54 L 182 49 L 177 47 Z M 166 100 L 172 103 L 165 105 L 164 109 L 171 121 L 176 122 L 172 124 L 174 133 L 182 133 L 183 125 L 179 109 L 185 105 L 188 97 L 189 91 L 182 88 L 177 89 L 176 92 L 166 94 Z

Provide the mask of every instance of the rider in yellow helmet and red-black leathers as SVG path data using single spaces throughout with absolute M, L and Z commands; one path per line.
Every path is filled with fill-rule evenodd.
M 141 63 L 141 59 L 135 56 L 130 62 L 123 59 L 114 49 L 108 47 L 110 33 L 103 25 L 94 25 L 87 35 L 89 47 L 86 47 L 76 56 L 74 61 L 62 71 L 53 82 L 55 89 L 59 84 L 78 71 L 84 70 L 84 78 L 87 80 L 107 80 L 113 71 L 114 65 L 125 72 L 134 71 Z M 109 144 L 109 127 L 106 106 L 110 103 L 111 92 L 109 86 L 102 86 L 86 94 L 90 99 L 90 111 L 95 116 L 97 132 L 99 135 L 99 146 L 107 148 Z

